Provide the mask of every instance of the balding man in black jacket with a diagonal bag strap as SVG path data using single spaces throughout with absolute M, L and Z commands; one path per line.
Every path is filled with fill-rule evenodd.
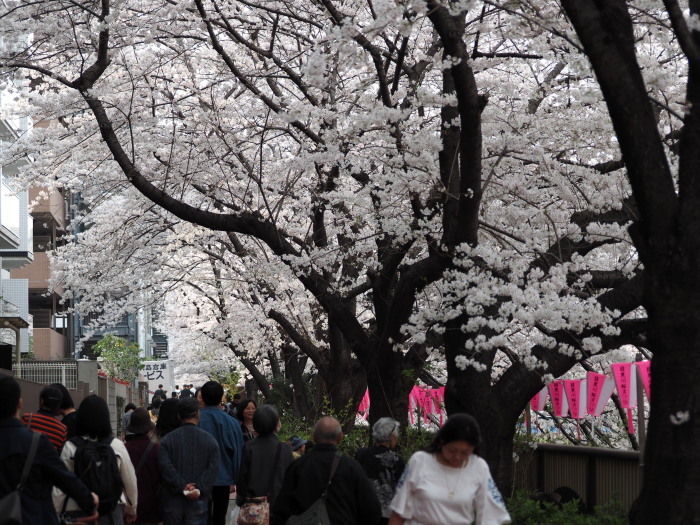
M 272 507 L 271 525 L 284 524 L 290 516 L 301 514 L 321 497 L 342 440 L 337 419 L 324 417 L 316 423 L 316 445 L 287 469 L 282 490 Z M 357 461 L 345 455 L 340 456 L 328 488 L 326 507 L 333 525 L 374 525 L 382 517 L 367 475 Z

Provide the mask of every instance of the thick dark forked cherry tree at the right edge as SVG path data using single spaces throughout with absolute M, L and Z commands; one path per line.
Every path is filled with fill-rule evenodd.
M 700 5 L 689 3 L 687 20 L 675 1 L 664 2 L 663 12 L 660 6 L 644 6 L 648 16 L 660 19 L 654 29 L 675 38 L 675 45 L 663 53 L 678 57 L 680 68 L 687 67 L 684 97 L 674 100 L 682 114 L 665 108 L 682 125 L 668 129 L 659 126 L 652 98 L 659 90 L 653 76 L 666 72 L 646 71 L 648 57 L 635 45 L 638 39 L 648 40 L 652 29 L 646 34 L 636 29 L 634 11 L 625 2 L 562 4 L 595 70 L 639 210 L 630 234 L 644 264 L 643 304 L 649 313 L 648 344 L 654 351 L 654 396 L 645 482 L 632 521 L 688 523 L 700 516 L 695 497 L 695 472 L 700 466 L 695 437 L 700 423 L 693 401 L 700 366 L 696 308 Z M 664 147 L 664 135 L 673 131 L 677 157 Z

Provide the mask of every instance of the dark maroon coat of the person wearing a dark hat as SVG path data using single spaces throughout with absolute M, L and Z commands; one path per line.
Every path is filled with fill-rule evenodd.
M 147 434 L 135 434 L 125 443 L 129 451 L 134 470 L 141 462 L 148 444 L 151 442 Z M 163 521 L 160 504 L 160 468 L 158 467 L 158 443 L 151 447 L 148 457 L 136 472 L 136 483 L 139 492 L 136 515 L 138 522 L 158 523 Z

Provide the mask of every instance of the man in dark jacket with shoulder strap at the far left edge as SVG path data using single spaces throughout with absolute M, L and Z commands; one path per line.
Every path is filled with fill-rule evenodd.
M 14 377 L 0 374 L 0 498 L 17 487 L 32 442 L 32 432 L 19 419 L 21 409 L 19 384 Z M 25 525 L 58 524 L 51 500 L 53 485 L 77 501 L 85 516 L 97 518 L 97 496 L 66 468 L 56 449 L 42 435 L 21 495 Z

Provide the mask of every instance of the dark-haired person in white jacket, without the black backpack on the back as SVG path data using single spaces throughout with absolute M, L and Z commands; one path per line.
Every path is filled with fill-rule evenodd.
M 100 514 L 98 523 L 100 525 L 114 525 L 124 522 L 131 523 L 136 520 L 137 489 L 136 474 L 134 466 L 129 458 L 129 452 L 124 443 L 114 437 L 112 427 L 109 422 L 109 408 L 107 403 L 99 396 L 91 395 L 83 399 L 78 407 L 76 419 L 77 434 L 86 441 L 109 441 L 109 445 L 117 457 L 117 468 L 122 480 L 123 492 L 119 499 L 119 504 L 110 514 Z M 77 445 L 72 440 L 66 441 L 61 451 L 61 459 L 70 471 L 75 471 L 75 453 Z M 111 441 L 110 441 L 111 440 Z M 80 473 L 76 472 L 78 476 Z M 65 494 L 54 488 L 54 506 L 57 512 L 63 512 Z M 66 511 L 77 509 L 75 502 L 69 500 L 65 505 Z

